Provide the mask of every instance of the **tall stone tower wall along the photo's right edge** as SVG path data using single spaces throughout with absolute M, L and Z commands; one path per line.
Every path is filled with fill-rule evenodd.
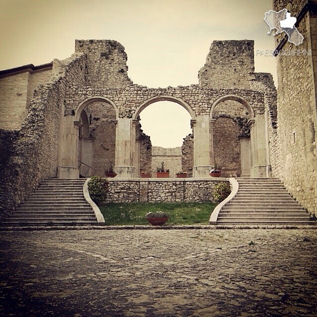
M 273 9 L 281 10 L 286 0 L 273 0 Z M 316 1 L 315 1 L 316 2 Z M 293 0 L 291 15 L 303 8 L 304 0 Z M 272 166 L 288 191 L 311 213 L 317 214 L 317 8 L 310 7 L 299 22 L 304 41 L 298 47 L 287 42 L 283 50 L 312 50 L 310 55 L 276 57 L 278 74 L 277 137 L 279 164 Z M 276 38 L 276 45 L 284 37 Z M 272 153 L 273 154 L 273 153 Z M 278 155 L 278 153 L 277 153 Z

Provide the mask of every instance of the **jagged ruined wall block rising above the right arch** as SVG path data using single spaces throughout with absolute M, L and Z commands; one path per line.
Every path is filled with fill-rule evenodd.
M 254 41 L 213 41 L 198 73 L 203 87 L 250 89 L 254 79 Z

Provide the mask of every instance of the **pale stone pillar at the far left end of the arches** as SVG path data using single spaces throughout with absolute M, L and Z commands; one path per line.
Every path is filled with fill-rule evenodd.
M 61 135 L 58 178 L 79 178 L 78 139 L 81 123 L 74 116 L 65 116 Z

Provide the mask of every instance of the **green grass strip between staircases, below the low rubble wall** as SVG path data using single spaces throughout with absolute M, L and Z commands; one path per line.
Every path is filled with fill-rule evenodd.
M 169 214 L 166 224 L 208 224 L 217 204 L 205 203 L 111 203 L 99 206 L 106 225 L 149 224 L 145 214 L 164 211 Z

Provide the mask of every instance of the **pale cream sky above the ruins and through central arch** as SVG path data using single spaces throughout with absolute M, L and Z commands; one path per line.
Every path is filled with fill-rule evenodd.
M 198 84 L 214 40 L 250 39 L 255 50 L 274 49 L 263 20 L 271 8 L 271 0 L 0 0 L 0 69 L 66 58 L 75 39 L 108 39 L 125 47 L 135 84 Z M 255 69 L 276 81 L 274 57 L 256 56 Z M 159 119 L 164 105 L 170 123 Z M 157 146 L 180 146 L 190 132 L 190 117 L 177 104 L 152 104 L 141 119 Z

